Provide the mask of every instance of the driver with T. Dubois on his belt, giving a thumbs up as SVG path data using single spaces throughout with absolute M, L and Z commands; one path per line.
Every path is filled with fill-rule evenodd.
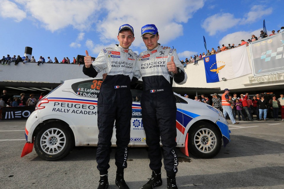
M 178 172 L 178 159 L 175 153 L 177 107 L 172 82 L 174 80 L 177 84 L 184 84 L 187 75 L 176 50 L 162 49 L 158 44 L 159 34 L 154 24 L 143 26 L 141 34 L 147 50 L 138 57 L 132 82 L 142 76 L 142 120 L 146 144 L 149 146 L 149 167 L 152 170 L 151 179 L 142 188 L 152 189 L 162 185 L 162 154 L 159 143 L 161 137 L 167 188 L 175 189 L 177 188 L 175 175 Z

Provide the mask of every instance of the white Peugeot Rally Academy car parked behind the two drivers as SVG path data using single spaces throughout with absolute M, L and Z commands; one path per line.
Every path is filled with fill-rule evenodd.
M 29 116 L 25 126 L 26 144 L 21 157 L 35 147 L 39 157 L 55 161 L 65 157 L 73 146 L 97 146 L 97 102 L 101 78 L 67 80 L 43 99 Z M 142 82 L 131 87 L 133 96 L 130 143 L 147 146 L 141 105 Z M 221 111 L 205 103 L 175 93 L 177 147 L 188 156 L 200 158 L 218 154 L 222 143 L 230 142 L 227 120 Z M 115 124 L 112 146 L 116 146 Z M 161 144 L 162 145 L 162 144 Z

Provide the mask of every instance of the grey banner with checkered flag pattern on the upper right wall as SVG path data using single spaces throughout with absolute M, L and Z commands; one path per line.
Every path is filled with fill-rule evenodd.
M 284 32 L 249 45 L 254 76 L 284 71 Z

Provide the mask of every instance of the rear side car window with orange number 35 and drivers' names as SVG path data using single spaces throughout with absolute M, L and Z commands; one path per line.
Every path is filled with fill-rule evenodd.
M 102 82 L 102 79 L 78 82 L 72 84 L 72 89 L 79 96 L 98 98 Z

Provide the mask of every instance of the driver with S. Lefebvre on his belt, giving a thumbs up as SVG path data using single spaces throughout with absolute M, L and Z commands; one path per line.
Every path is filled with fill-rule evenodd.
M 127 167 L 127 151 L 130 142 L 130 120 L 132 115 L 132 95 L 130 82 L 134 74 L 137 54 L 129 49 L 134 41 L 133 27 L 125 24 L 120 26 L 117 39 L 119 45 L 113 48 L 103 48 L 92 63 L 91 56 L 84 58 L 83 73 L 90 77 L 103 71 L 107 74 L 101 84 L 98 98 L 98 128 L 99 141 L 96 154 L 97 168 L 100 172 L 98 189 L 106 189 L 108 183 L 108 169 L 112 131 L 115 120 L 117 166 L 115 184 L 122 189 L 129 189 L 124 180 L 124 169 Z

